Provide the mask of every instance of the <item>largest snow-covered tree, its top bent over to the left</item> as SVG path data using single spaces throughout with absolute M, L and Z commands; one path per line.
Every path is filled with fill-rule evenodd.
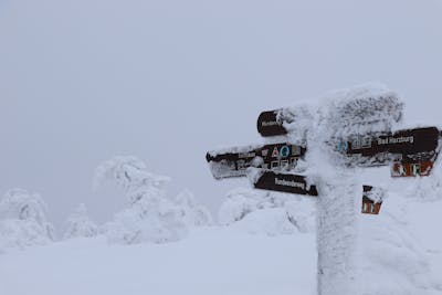
M 135 157 L 115 157 L 95 171 L 94 186 L 113 181 L 123 188 L 128 206 L 104 226 L 108 240 L 116 243 L 164 243 L 187 234 L 177 206 L 166 198 L 167 177 L 147 171 L 147 166 Z

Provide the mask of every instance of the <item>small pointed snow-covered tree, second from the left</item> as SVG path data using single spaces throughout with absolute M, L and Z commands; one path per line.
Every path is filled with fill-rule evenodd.
M 98 228 L 87 214 L 84 203 L 81 203 L 67 219 L 67 230 L 64 239 L 71 238 L 92 238 L 98 232 Z

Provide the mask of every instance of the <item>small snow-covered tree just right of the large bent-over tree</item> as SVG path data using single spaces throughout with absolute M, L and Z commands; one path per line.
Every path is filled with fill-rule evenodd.
M 181 211 L 182 219 L 188 226 L 204 226 L 212 224 L 212 215 L 209 210 L 198 204 L 193 193 L 185 189 L 175 198 L 175 204 Z

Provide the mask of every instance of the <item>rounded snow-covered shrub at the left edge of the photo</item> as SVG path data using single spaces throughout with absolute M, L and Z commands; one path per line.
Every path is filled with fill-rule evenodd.
M 0 201 L 0 243 L 3 247 L 43 245 L 54 240 L 46 204 L 38 193 L 8 191 Z

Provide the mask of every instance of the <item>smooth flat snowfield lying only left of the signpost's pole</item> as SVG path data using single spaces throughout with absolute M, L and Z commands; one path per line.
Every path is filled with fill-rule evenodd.
M 73 239 L 0 255 L 4 295 L 313 295 L 313 233 L 270 238 L 204 228 L 168 244 Z

